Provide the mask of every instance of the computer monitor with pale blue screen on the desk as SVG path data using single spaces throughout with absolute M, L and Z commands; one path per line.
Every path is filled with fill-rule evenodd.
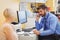
M 19 11 L 17 16 L 19 23 L 23 24 L 27 22 L 27 13 L 25 11 Z

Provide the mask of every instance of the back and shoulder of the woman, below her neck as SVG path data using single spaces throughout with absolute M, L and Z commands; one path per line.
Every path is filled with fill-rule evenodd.
M 6 35 L 6 40 L 18 40 L 17 34 L 12 28 L 11 24 L 4 23 L 3 24 L 3 32 Z

